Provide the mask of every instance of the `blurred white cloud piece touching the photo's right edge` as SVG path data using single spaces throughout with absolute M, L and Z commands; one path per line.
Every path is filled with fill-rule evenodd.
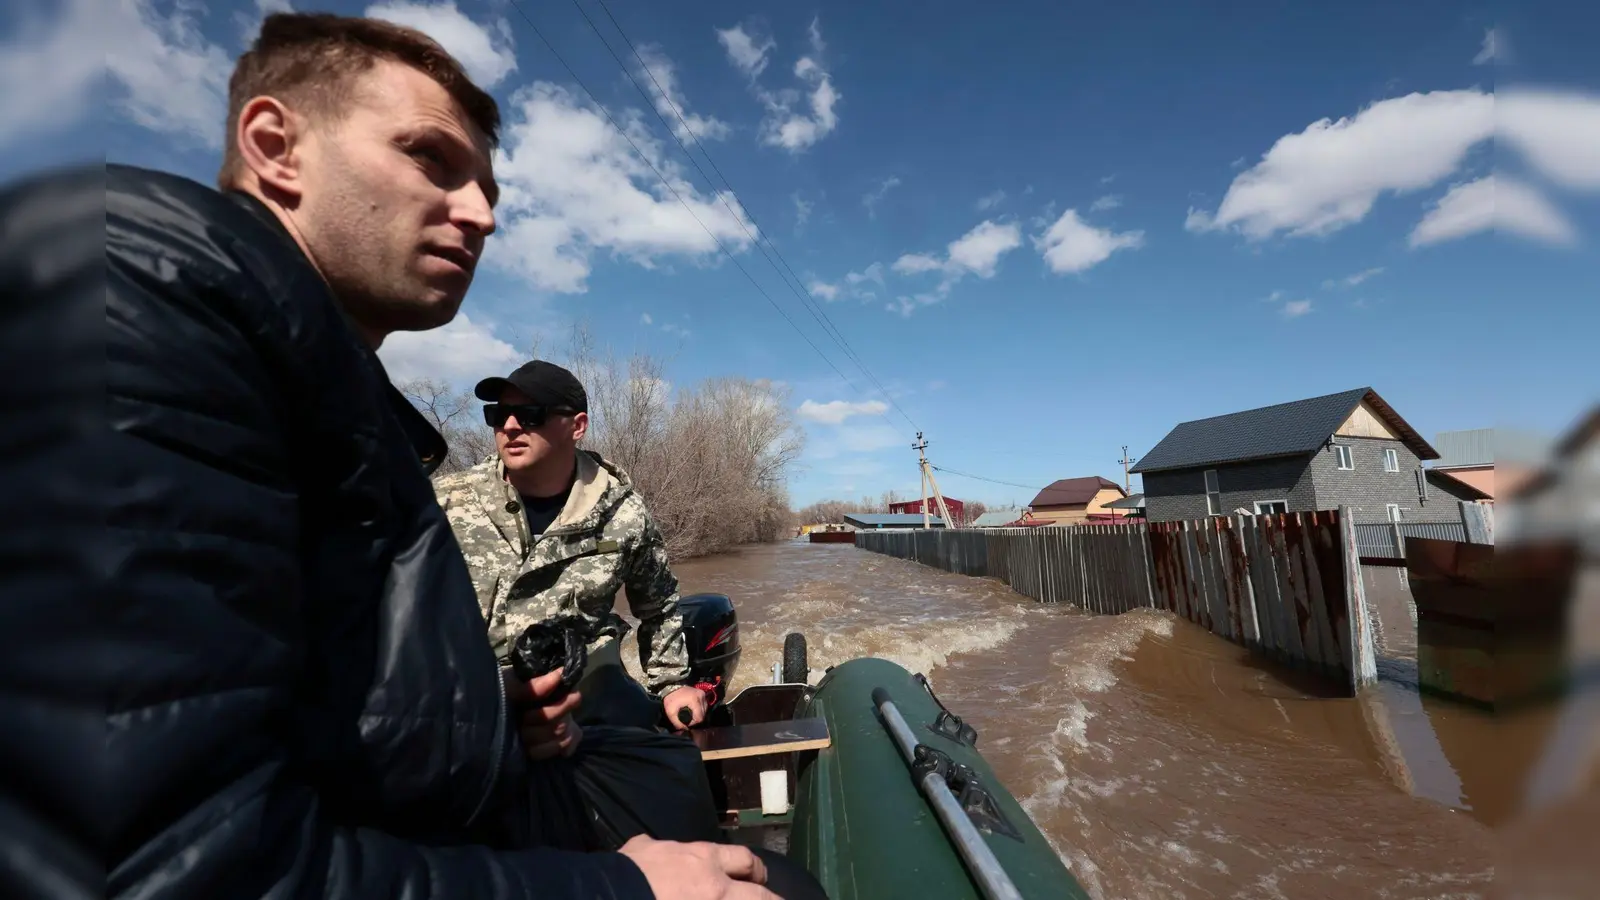
M 1571 191 L 1600 191 L 1600 96 L 1507 88 L 1494 112 L 1499 136 L 1541 175 Z

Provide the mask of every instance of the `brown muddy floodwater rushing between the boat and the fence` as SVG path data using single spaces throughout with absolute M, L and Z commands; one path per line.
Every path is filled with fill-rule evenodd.
M 768 677 L 789 631 L 813 679 L 861 655 L 926 673 L 1096 897 L 1488 894 L 1490 825 L 1408 735 L 1437 711 L 1394 685 L 1326 697 L 1166 613 L 1045 607 L 848 544 L 675 570 L 685 593 L 734 597 L 738 684 Z

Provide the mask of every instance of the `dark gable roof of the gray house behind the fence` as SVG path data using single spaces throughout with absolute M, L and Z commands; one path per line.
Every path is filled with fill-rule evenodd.
M 1190 469 L 1219 463 L 1242 463 L 1272 456 L 1312 453 L 1366 400 L 1421 460 L 1437 460 L 1429 447 L 1398 413 L 1371 388 L 1355 388 L 1322 397 L 1293 400 L 1240 413 L 1186 421 L 1166 432 L 1139 460 L 1134 472 Z

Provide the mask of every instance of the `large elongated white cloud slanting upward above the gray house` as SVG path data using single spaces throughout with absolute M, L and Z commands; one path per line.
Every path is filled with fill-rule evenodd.
M 1366 218 L 1384 192 L 1434 186 L 1494 131 L 1494 98 L 1475 90 L 1413 93 L 1354 117 L 1285 135 L 1240 173 L 1214 215 L 1190 210 L 1189 231 L 1322 235 Z

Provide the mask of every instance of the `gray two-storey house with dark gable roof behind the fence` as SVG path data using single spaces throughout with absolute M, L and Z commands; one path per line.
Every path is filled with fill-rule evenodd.
M 1150 522 L 1349 506 L 1357 522 L 1459 522 L 1482 490 L 1429 477 L 1435 450 L 1371 388 L 1171 429 L 1131 469 Z

